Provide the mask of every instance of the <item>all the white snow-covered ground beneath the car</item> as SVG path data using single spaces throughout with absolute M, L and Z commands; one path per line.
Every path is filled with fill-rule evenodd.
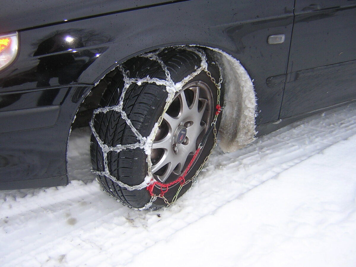
M 101 192 L 73 131 L 67 187 L 0 192 L 0 265 L 356 266 L 355 121 L 353 103 L 217 149 L 159 211 Z

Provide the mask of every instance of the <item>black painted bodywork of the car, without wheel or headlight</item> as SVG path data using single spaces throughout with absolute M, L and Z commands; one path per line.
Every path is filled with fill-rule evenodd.
M 355 32 L 344 35 L 355 27 L 354 0 L 341 1 L 342 6 L 323 1 L 316 9 L 296 0 L 297 16 L 294 0 L 75 2 L 77 9 L 73 1 L 47 1 L 0 11 L 7 12 L 0 16 L 0 31 L 18 30 L 20 36 L 17 59 L 0 72 L 0 189 L 66 184 L 67 140 L 80 103 L 117 64 L 158 47 L 207 46 L 239 59 L 255 85 L 260 128 L 356 98 L 351 75 L 355 42 L 353 50 L 347 43 L 355 40 Z M 348 20 L 338 36 L 335 23 L 343 16 Z M 322 49 L 327 53 L 312 63 L 305 61 L 313 53 L 313 37 L 322 39 L 308 32 L 305 23 L 333 28 L 333 38 L 339 38 L 326 38 L 329 43 Z M 284 34 L 285 41 L 269 45 L 268 36 L 277 34 Z M 346 52 L 337 57 L 340 38 L 345 38 L 341 48 Z M 311 88 L 306 78 L 314 76 Z M 325 85 L 345 92 L 320 100 Z

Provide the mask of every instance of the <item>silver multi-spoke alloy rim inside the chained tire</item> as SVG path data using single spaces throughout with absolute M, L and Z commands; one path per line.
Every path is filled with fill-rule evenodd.
M 208 130 L 213 114 L 209 86 L 196 81 L 187 84 L 174 97 L 152 144 L 151 171 L 164 183 L 183 174 Z

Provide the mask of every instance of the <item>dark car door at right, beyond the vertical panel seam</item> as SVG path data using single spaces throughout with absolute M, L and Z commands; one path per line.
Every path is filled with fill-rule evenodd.
M 296 0 L 280 119 L 356 99 L 356 1 Z

